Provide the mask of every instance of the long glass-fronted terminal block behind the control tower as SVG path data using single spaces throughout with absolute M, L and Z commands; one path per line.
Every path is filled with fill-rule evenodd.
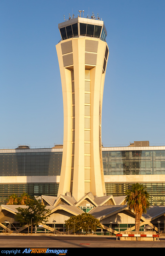
M 63 146 L 0 150 L 0 204 L 9 195 L 58 195 Z M 150 205 L 165 205 L 165 146 L 135 141 L 126 147 L 102 147 L 107 195 L 123 196 L 133 183 L 147 187 Z M 90 191 L 88 191 L 90 192 Z

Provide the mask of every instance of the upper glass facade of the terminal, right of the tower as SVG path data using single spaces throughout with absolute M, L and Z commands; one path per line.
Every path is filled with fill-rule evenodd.
M 104 175 L 165 174 L 165 150 L 103 151 Z

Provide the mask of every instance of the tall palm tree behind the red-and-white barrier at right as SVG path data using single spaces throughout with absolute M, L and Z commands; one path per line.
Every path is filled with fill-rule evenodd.
M 133 184 L 132 188 L 126 191 L 125 202 L 129 206 L 129 210 L 133 210 L 135 213 L 135 231 L 139 231 L 141 216 L 149 208 L 149 198 L 146 187 L 139 183 Z

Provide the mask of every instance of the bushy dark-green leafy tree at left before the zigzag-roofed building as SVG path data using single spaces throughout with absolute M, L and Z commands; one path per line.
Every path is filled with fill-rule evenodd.
M 30 199 L 27 201 L 27 207 L 18 207 L 16 213 L 16 221 L 19 221 L 21 225 L 31 225 L 31 233 L 33 231 L 33 225 L 39 223 L 46 223 L 48 221 L 47 215 L 50 214 L 50 209 L 46 209 L 46 206 L 41 204 L 41 200 Z

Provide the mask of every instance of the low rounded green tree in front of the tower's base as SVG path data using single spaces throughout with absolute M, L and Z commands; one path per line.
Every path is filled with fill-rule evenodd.
M 89 213 L 82 213 L 81 215 L 71 216 L 69 220 L 65 220 L 66 230 L 81 231 L 82 229 L 87 233 L 88 231 L 96 232 L 97 226 L 101 227 L 98 219 Z

